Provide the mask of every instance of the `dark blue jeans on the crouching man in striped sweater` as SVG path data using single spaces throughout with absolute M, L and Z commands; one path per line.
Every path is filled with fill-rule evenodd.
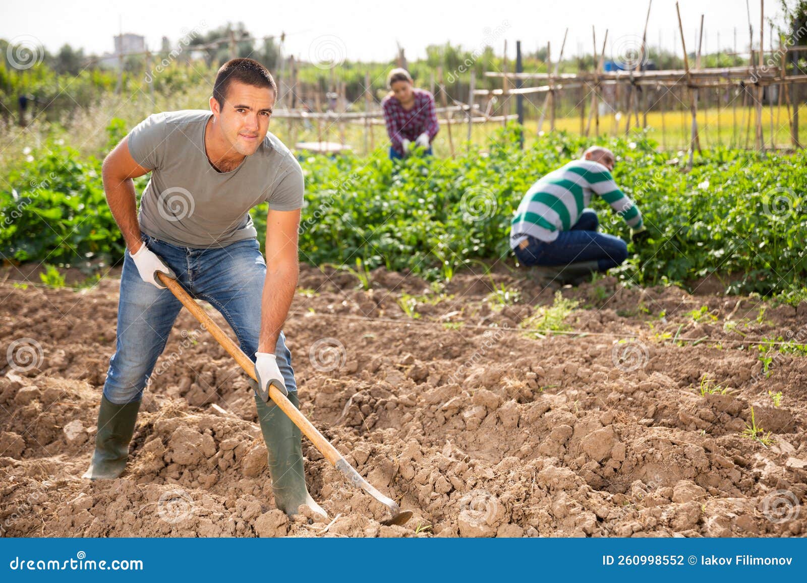
M 546 243 L 527 235 L 529 244 L 516 247 L 514 252 L 519 263 L 527 267 L 596 261 L 600 271 L 608 271 L 628 258 L 628 246 L 619 237 L 598 233 L 599 226 L 596 211 L 585 209 L 569 231 L 558 233 L 558 239 Z

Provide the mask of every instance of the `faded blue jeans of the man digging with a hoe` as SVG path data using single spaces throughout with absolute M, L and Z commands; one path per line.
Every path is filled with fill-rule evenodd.
M 266 261 L 257 239 L 237 241 L 224 248 L 194 249 L 167 244 L 149 235 L 143 237 L 148 248 L 174 270 L 192 298 L 210 302 L 220 311 L 235 331 L 241 350 L 254 361 L 266 277 Z M 159 289 L 140 278 L 127 252 L 120 278 L 117 342 L 103 385 L 104 397 L 116 405 L 143 398 L 143 389 L 180 309 L 182 303 L 170 289 Z M 291 352 L 282 332 L 274 353 L 286 389 L 297 390 Z

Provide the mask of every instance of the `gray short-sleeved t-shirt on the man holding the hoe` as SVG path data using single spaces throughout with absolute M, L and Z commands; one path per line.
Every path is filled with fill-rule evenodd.
M 152 170 L 140 198 L 140 229 L 166 243 L 220 248 L 255 238 L 249 209 L 303 206 L 303 169 L 278 137 L 267 132 L 252 156 L 231 172 L 207 160 L 208 110 L 149 115 L 129 132 L 132 158 Z

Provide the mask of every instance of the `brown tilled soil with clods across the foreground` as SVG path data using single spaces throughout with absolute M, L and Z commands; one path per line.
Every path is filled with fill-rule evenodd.
M 307 439 L 309 489 L 328 521 L 276 510 L 247 377 L 186 310 L 146 389 L 126 473 L 83 480 L 115 345 L 119 281 L 108 277 L 82 290 L 0 284 L 2 533 L 807 532 L 807 358 L 790 349 L 805 342 L 807 303 L 608 277 L 559 289 L 578 302 L 567 329 L 527 335 L 558 286 L 524 273 L 462 274 L 438 290 L 379 269 L 372 289 L 356 283 L 303 266 L 285 332 L 301 409 L 414 512 L 405 526 L 382 526 L 383 508 Z M 766 374 L 755 340 L 779 337 Z

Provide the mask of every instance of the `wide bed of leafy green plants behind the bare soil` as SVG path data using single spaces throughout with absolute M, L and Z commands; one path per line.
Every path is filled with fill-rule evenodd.
M 125 135 L 112 123 L 111 143 Z M 592 140 L 557 133 L 519 147 L 522 128 L 503 129 L 484 148 L 454 159 L 311 156 L 300 225 L 300 258 L 450 279 L 475 261 L 513 265 L 508 231 L 521 195 Z M 660 153 L 637 134 L 602 141 L 617 154 L 614 177 L 638 203 L 650 239 L 629 245 L 616 273 L 640 285 L 713 275 L 733 293 L 803 297 L 807 277 L 807 154 L 719 149 Z M 100 160 L 52 142 L 15 166 L 0 190 L 0 252 L 16 261 L 119 260 L 123 241 L 104 198 Z M 136 180 L 140 193 L 148 177 Z M 10 189 L 8 187 L 10 185 Z M 602 201 L 602 230 L 628 228 Z M 261 244 L 266 207 L 253 210 Z M 359 260 L 359 263 L 357 263 Z M 800 295 L 801 294 L 801 295 Z

